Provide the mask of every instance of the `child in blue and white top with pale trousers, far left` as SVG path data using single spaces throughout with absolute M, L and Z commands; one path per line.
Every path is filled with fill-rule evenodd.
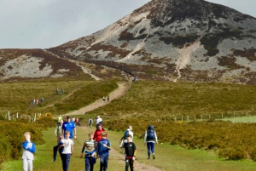
M 23 170 L 24 171 L 32 171 L 33 169 L 33 160 L 34 160 L 34 153 L 36 151 L 36 145 L 30 141 L 31 135 L 30 132 L 26 132 L 24 134 L 25 142 L 22 143 L 23 147 Z

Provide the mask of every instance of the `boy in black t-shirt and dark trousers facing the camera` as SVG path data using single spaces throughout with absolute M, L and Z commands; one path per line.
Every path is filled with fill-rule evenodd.
M 126 154 L 125 171 L 128 171 L 129 166 L 131 168 L 131 171 L 133 171 L 137 150 L 136 150 L 136 145 L 132 142 L 131 134 L 127 135 L 127 143 L 125 143 L 124 148 L 125 148 L 125 154 Z

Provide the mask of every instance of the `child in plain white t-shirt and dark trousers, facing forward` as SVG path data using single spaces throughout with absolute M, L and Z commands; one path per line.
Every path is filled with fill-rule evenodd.
M 73 154 L 73 140 L 69 139 L 70 132 L 65 131 L 65 139 L 61 140 L 62 145 L 59 146 L 59 149 L 61 147 L 63 148 L 63 151 L 61 153 L 61 161 L 62 161 L 62 168 L 63 171 L 68 171 L 68 165 L 70 162 L 70 157 Z

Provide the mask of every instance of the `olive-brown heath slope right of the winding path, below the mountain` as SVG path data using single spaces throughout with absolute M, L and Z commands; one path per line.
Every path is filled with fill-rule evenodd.
M 220 116 L 233 111 L 255 114 L 256 87 L 224 83 L 164 83 L 138 81 L 125 97 L 90 113 L 156 119 L 201 115 Z M 236 116 L 239 112 L 236 112 Z

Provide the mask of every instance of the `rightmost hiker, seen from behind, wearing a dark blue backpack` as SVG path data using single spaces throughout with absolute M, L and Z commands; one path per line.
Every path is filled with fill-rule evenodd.
M 145 132 L 145 137 L 144 137 L 144 145 L 147 142 L 147 147 L 148 147 L 148 159 L 150 159 L 150 151 L 152 152 L 153 159 L 155 159 L 154 156 L 154 143 L 157 145 L 158 140 L 157 136 L 154 131 L 153 125 L 148 125 L 148 130 Z

